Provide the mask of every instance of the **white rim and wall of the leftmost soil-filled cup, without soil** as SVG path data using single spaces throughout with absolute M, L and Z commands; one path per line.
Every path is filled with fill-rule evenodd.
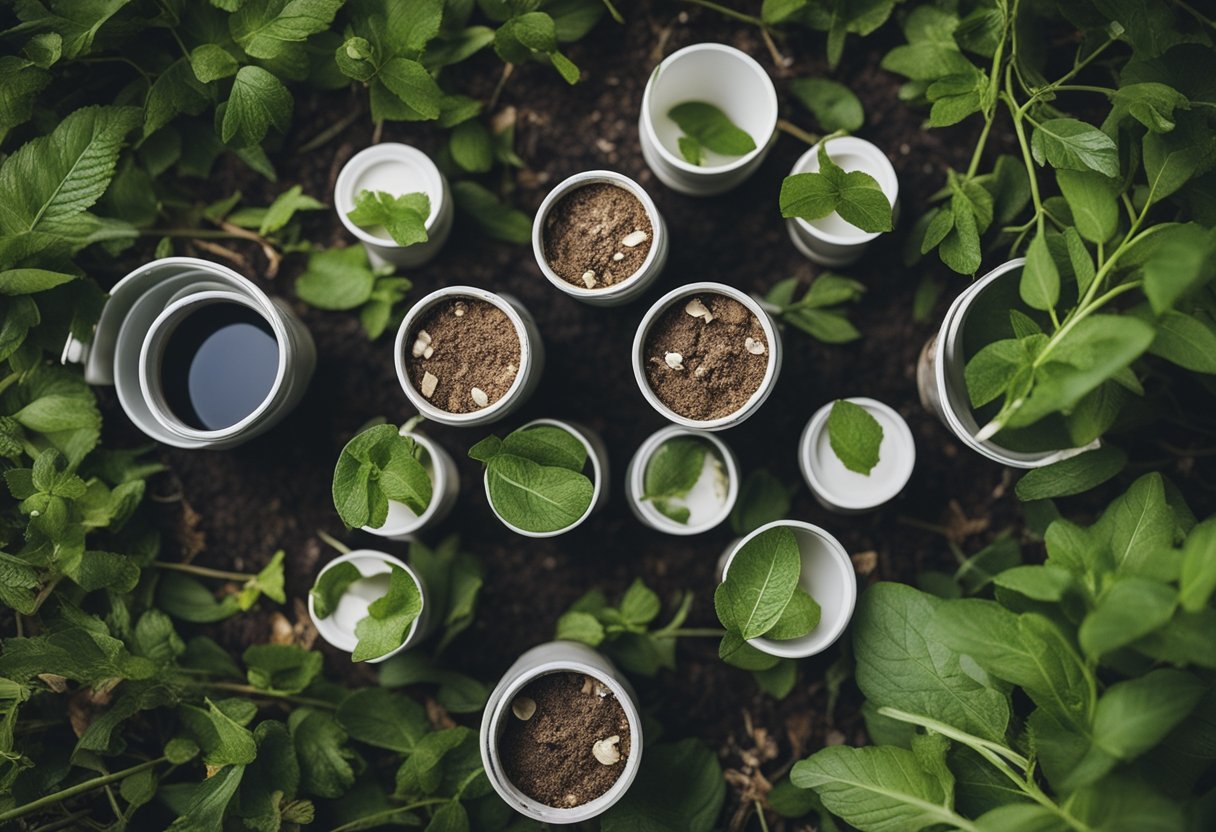
M 514 326 L 516 335 L 519 336 L 519 371 L 516 373 L 516 380 L 512 382 L 511 388 L 507 389 L 501 399 L 491 405 L 467 414 L 452 414 L 430 404 L 429 399 L 422 395 L 422 392 L 413 386 L 405 365 L 406 339 L 413 331 L 413 326 L 418 319 L 437 303 L 460 298 L 485 300 L 494 304 L 502 310 L 512 326 Z M 536 328 L 536 321 L 533 320 L 531 314 L 524 305 L 510 294 L 497 294 L 473 286 L 446 286 L 441 289 L 435 289 L 413 304 L 410 311 L 406 313 L 405 320 L 401 321 L 401 326 L 396 330 L 396 341 L 393 344 L 393 350 L 396 378 L 401 383 L 401 389 L 405 390 L 406 398 L 410 399 L 410 404 L 417 407 L 418 412 L 430 421 L 454 427 L 490 425 L 510 415 L 527 401 L 528 397 L 536 389 L 545 367 L 545 345 L 540 338 L 540 330 Z

